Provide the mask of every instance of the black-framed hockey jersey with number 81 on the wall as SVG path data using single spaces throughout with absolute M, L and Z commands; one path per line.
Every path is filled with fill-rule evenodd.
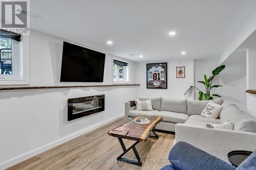
M 167 63 L 146 64 L 146 88 L 167 89 Z

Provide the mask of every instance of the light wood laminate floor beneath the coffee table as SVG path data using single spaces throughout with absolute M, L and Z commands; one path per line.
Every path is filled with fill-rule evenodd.
M 123 162 L 112 162 L 116 161 L 117 156 L 122 153 L 122 148 L 118 139 L 109 136 L 107 132 L 122 124 L 124 124 L 124 118 L 115 120 L 108 125 L 9 167 L 8 170 L 160 169 L 168 164 L 168 154 L 173 147 L 175 135 L 162 132 L 157 132 L 158 139 L 149 138 L 145 143 L 140 142 L 136 145 L 141 159 L 145 161 L 141 167 Z M 124 139 L 126 148 L 129 148 L 133 143 L 134 141 Z M 124 156 L 135 159 L 132 151 Z

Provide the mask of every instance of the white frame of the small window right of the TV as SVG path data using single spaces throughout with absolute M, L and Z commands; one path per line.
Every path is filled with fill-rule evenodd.
M 127 66 L 123 66 L 124 67 L 123 68 L 123 80 L 119 79 L 119 66 L 117 64 L 114 64 L 114 60 L 128 63 Z M 128 83 L 130 83 L 130 62 L 123 61 L 120 58 L 113 57 L 111 64 L 112 64 L 112 71 L 111 71 L 112 84 L 128 84 Z M 114 67 L 115 67 L 115 72 L 116 72 L 116 80 L 114 80 L 114 76 L 113 76 Z M 118 75 L 117 75 L 117 73 L 118 73 Z

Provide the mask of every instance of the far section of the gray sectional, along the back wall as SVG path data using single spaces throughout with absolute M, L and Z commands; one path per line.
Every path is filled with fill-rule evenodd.
M 142 115 L 162 116 L 163 120 L 156 129 L 175 132 L 177 123 L 185 124 L 193 120 L 202 120 L 205 123 L 220 123 L 220 119 L 208 119 L 201 116 L 201 112 L 208 104 L 208 101 L 187 101 L 186 99 L 151 98 L 139 96 L 140 101 L 152 100 L 153 111 L 136 110 L 135 101 L 125 103 L 125 122 L 129 122 L 134 117 Z M 213 100 L 217 104 L 222 104 L 222 99 Z M 206 125 L 206 124 L 205 124 Z

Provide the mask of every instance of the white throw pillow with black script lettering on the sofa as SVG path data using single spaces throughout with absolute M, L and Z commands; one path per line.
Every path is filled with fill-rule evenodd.
M 218 118 L 221 113 L 221 105 L 214 102 L 209 102 L 201 113 L 201 116 L 207 118 Z

